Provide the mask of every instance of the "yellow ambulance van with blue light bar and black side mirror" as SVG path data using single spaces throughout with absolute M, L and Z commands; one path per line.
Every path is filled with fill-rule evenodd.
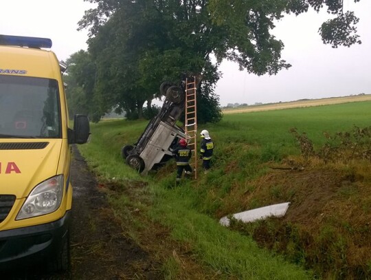
M 71 144 L 87 142 L 89 120 L 69 128 L 66 67 L 51 47 L 0 35 L 0 270 L 69 269 Z

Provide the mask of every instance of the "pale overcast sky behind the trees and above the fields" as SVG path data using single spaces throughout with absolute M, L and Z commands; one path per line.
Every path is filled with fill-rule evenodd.
M 65 60 L 78 50 L 87 50 L 87 30 L 76 29 L 91 7 L 83 0 L 5 1 L 1 3 L 0 34 L 50 38 L 52 50 Z M 282 58 L 293 66 L 276 76 L 255 76 L 238 71 L 235 63 L 222 63 L 223 78 L 216 85 L 221 105 L 371 94 L 371 1 L 344 0 L 344 8 L 360 18 L 361 45 L 337 49 L 324 45 L 318 29 L 331 17 L 326 12 L 286 16 L 273 34 L 284 42 Z

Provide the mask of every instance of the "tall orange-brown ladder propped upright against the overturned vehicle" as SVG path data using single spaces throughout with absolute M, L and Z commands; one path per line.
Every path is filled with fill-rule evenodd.
M 190 166 L 197 179 L 197 103 L 196 103 L 196 77 L 186 78 L 186 123 L 188 147 L 192 150 Z

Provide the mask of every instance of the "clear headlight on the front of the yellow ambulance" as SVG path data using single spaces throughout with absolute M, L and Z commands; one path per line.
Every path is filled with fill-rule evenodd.
M 63 199 L 63 182 L 63 175 L 57 175 L 35 186 L 16 216 L 16 220 L 56 211 Z

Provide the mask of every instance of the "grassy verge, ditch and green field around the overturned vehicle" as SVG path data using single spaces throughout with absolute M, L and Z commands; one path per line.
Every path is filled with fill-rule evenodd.
M 92 125 L 91 142 L 79 148 L 100 182 L 114 186 L 107 193 L 117 217 L 156 252 L 167 279 L 190 279 L 189 270 L 207 273 L 204 279 L 365 279 L 370 161 L 334 159 L 339 153 L 326 161 L 318 151 L 336 146 L 324 132 L 366 127 L 370 105 L 228 115 L 199 127 L 216 143 L 212 171 L 178 187 L 175 162 L 142 177 L 121 158 L 121 147 L 135 143 L 146 122 Z M 314 153 L 304 153 L 305 140 Z M 282 219 L 234 221 L 232 230 L 218 224 L 224 215 L 281 202 L 291 202 Z M 177 249 L 158 246 L 159 236 Z

